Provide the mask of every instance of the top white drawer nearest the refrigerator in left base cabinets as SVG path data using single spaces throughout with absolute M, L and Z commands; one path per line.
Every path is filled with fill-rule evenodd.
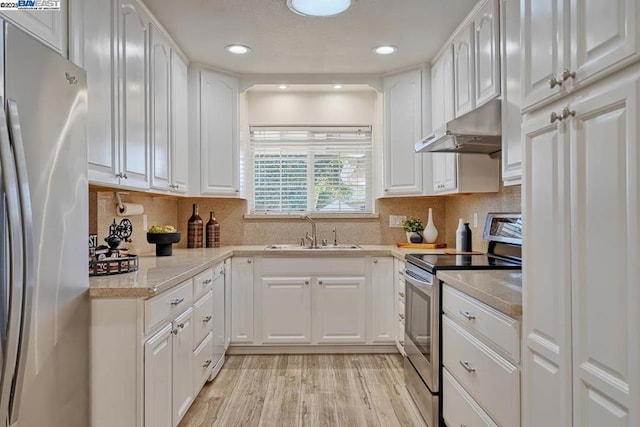
M 160 321 L 177 315 L 193 300 L 193 281 L 182 282 L 169 291 L 144 302 L 144 331 L 149 333 Z

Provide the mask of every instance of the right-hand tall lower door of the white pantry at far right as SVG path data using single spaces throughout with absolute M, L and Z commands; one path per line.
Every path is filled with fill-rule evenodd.
M 570 106 L 574 425 L 640 425 L 639 100 L 636 77 Z

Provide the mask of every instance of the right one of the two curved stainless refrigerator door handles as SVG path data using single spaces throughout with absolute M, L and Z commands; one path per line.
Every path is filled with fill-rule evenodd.
M 29 332 L 31 326 L 31 306 L 33 290 L 35 288 L 36 269 L 34 265 L 35 249 L 33 237 L 33 214 L 31 210 L 31 191 L 29 189 L 29 175 L 27 160 L 24 154 L 22 130 L 20 128 L 20 114 L 18 104 L 13 99 L 7 100 L 9 107 L 9 134 L 13 142 L 13 155 L 16 162 L 18 175 L 18 189 L 20 191 L 20 205 L 22 207 L 22 235 L 24 251 L 24 277 L 22 288 L 22 318 L 20 323 L 20 339 L 18 342 L 18 365 L 15 373 L 11 400 L 9 401 L 9 424 L 18 419 L 20 410 L 20 398 L 22 396 L 22 384 L 24 382 L 25 367 L 27 365 L 27 349 L 29 347 Z

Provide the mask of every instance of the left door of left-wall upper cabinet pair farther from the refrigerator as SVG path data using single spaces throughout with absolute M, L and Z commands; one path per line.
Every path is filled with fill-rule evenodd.
M 171 48 L 155 26 L 151 26 L 151 187 L 169 190 L 171 144 L 169 94 Z

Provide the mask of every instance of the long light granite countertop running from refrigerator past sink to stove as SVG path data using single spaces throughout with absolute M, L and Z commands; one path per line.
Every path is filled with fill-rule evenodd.
M 404 249 L 395 245 L 361 245 L 361 250 L 267 250 L 265 245 L 221 248 L 173 249 L 173 255 L 138 257 L 138 271 L 89 278 L 91 298 L 150 298 L 211 268 L 231 256 L 344 257 L 394 256 L 404 260 L 409 253 L 442 253 L 441 249 Z

